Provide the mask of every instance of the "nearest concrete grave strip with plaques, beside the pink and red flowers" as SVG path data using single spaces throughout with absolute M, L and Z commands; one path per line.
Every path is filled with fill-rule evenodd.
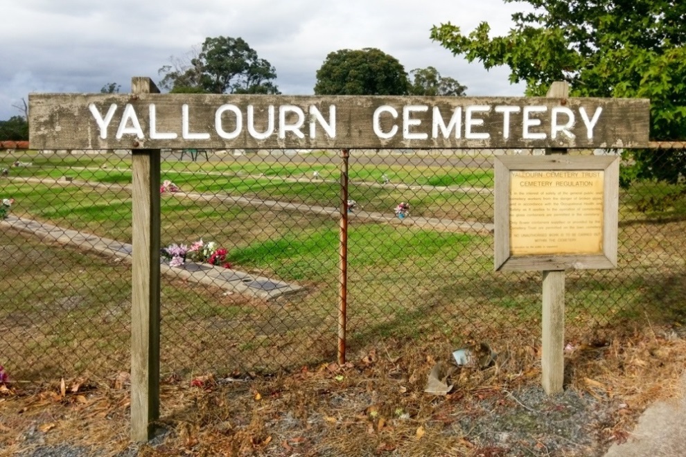
M 24 219 L 15 216 L 8 216 L 7 219 L 0 221 L 3 230 L 14 228 L 17 231 L 30 233 L 39 238 L 69 244 L 87 251 L 107 254 L 116 258 L 121 258 L 127 262 L 132 261 L 131 244 L 118 242 L 109 238 L 99 237 L 76 230 L 69 230 L 37 222 L 32 219 Z M 299 285 L 284 283 L 283 281 L 254 276 L 251 274 L 215 267 L 207 263 L 186 262 L 183 267 L 169 267 L 162 260 L 160 272 L 171 278 L 183 278 L 195 283 L 213 285 L 229 292 L 248 294 L 267 300 L 276 298 L 283 294 L 297 292 L 302 289 Z

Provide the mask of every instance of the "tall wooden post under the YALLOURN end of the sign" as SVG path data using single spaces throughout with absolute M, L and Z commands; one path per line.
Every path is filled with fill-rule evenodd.
M 132 78 L 132 93 L 159 93 L 150 78 Z M 160 151 L 132 144 L 131 439 L 150 439 L 159 419 Z

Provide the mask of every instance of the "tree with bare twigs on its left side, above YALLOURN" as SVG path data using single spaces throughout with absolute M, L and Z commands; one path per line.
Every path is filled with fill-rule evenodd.
M 173 92 L 279 93 L 274 66 L 240 37 L 208 37 L 200 50 L 171 61 L 159 69 L 159 84 Z

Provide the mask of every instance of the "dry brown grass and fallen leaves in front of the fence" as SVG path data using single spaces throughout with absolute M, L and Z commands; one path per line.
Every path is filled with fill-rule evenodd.
M 369 345 L 344 366 L 304 366 L 269 377 L 229 373 L 165 379 L 159 426 L 166 433 L 138 453 L 504 455 L 455 424 L 483 415 L 484 401 L 498 409 L 515 408 L 518 392 L 540 388 L 534 334 L 521 330 L 491 341 L 497 363 L 486 370 L 455 367 L 449 378 L 455 386 L 444 397 L 423 388 L 430 368 L 437 361 L 449 363 L 454 348 L 443 337 L 407 343 Z M 676 395 L 685 364 L 686 340 L 649 322 L 599 329 L 568 352 L 565 388 L 595 397 L 608 411 L 604 422 L 586 424 L 597 441 L 595 450 L 622 440 L 648 404 Z M 10 384 L 0 391 L 0 455 L 63 443 L 116 455 L 130 447 L 128 416 L 125 373 L 69 379 L 63 385 L 55 380 L 35 390 Z

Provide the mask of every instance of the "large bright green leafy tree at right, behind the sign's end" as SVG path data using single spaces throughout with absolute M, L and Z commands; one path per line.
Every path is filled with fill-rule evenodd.
M 504 0 L 508 3 L 516 0 Z M 649 98 L 651 138 L 686 139 L 686 2 L 682 0 L 526 0 L 534 12 L 512 15 L 505 36 L 482 22 L 468 35 L 450 24 L 431 38 L 486 69 L 510 67 L 511 82 L 541 96 L 567 81 L 572 96 Z M 676 182 L 686 154 L 636 151 L 636 177 Z

